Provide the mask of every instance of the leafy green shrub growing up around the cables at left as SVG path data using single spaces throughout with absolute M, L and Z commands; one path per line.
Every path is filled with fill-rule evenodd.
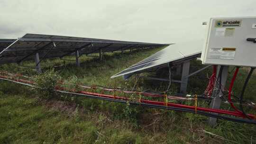
M 60 80 L 60 76 L 54 69 L 40 73 L 35 77 L 35 82 L 36 87 L 42 89 L 32 88 L 32 90 L 35 90 L 41 99 L 51 99 L 54 95 L 53 90 Z

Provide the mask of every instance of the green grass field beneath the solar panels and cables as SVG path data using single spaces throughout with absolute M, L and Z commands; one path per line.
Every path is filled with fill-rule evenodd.
M 82 56 L 81 67 L 59 59 L 41 63 L 43 71 L 55 68 L 62 80 L 85 85 L 132 88 L 135 78 L 124 81 L 110 76 L 154 54 L 161 48 L 124 54 L 107 54 L 103 62 Z M 74 57 L 68 57 L 74 59 Z M 193 62 L 191 71 L 200 67 Z M 34 62 L 0 65 L 0 70 L 36 75 Z M 206 71 L 210 72 L 210 70 Z M 206 72 L 193 76 L 188 91 L 200 94 L 207 84 Z M 230 74 L 232 75 L 232 68 Z M 235 93 L 239 94 L 247 69 L 239 72 Z M 255 75 L 246 98 L 255 101 Z M 230 77 L 229 77 L 230 79 Z M 153 83 L 153 84 L 152 84 Z M 165 90 L 167 82 L 139 80 L 141 89 Z M 172 85 L 173 91 L 176 85 Z M 208 117 L 113 102 L 59 96 L 39 99 L 40 93 L 25 86 L 0 81 L 0 144 L 254 144 L 256 126 L 219 120 L 210 127 Z M 204 104 L 205 105 L 205 104 Z M 227 106 L 224 106 L 229 108 Z M 253 111 L 253 109 L 251 109 Z

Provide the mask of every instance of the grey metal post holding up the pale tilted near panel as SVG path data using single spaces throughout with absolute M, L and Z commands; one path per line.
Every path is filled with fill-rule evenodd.
M 182 67 L 183 83 L 181 83 L 181 87 L 180 87 L 180 93 L 183 93 L 183 94 L 187 93 L 188 78 L 185 78 L 185 76 L 189 75 L 189 67 L 190 67 L 189 61 L 186 61 L 183 63 L 183 67 Z

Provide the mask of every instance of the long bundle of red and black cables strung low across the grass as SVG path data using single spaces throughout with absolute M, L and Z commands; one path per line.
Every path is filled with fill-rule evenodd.
M 12 81 L 12 80 L 7 80 L 7 79 L 3 79 L 3 78 L 0 78 L 0 79 L 6 80 L 6 81 Z M 18 82 L 18 81 L 12 81 L 12 82 L 16 82 L 16 83 L 23 84 L 23 85 L 30 86 L 30 87 L 35 87 L 34 85 L 26 84 L 26 83 L 22 83 L 22 82 Z M 35 88 L 37 88 L 37 87 L 35 87 Z M 38 89 L 42 89 L 42 88 L 38 88 Z M 82 97 L 88 97 L 88 98 L 92 98 L 92 99 L 102 99 L 102 100 L 109 100 L 109 101 L 122 102 L 122 103 L 129 102 L 130 104 L 136 104 L 136 105 L 139 105 L 139 106 L 146 106 L 146 107 L 151 107 L 151 108 L 162 108 L 162 109 L 170 109 L 170 110 L 177 110 L 177 111 L 195 113 L 195 110 L 194 110 L 193 106 L 186 106 L 186 105 L 181 105 L 181 104 L 168 103 L 168 105 L 165 106 L 165 102 L 151 101 L 151 100 L 144 100 L 144 99 L 142 100 L 142 102 L 130 101 L 128 98 L 118 97 L 118 96 L 114 97 L 114 99 L 113 99 L 113 96 L 111 96 L 111 95 L 92 93 L 92 92 L 87 92 L 87 91 L 80 91 L 78 93 L 77 92 L 63 91 L 63 90 L 53 90 L 53 91 L 73 94 L 73 95 L 82 96 Z M 204 115 L 204 116 L 208 116 L 208 117 L 216 117 L 216 118 L 226 119 L 226 120 L 229 120 L 229 121 L 256 124 L 256 121 L 254 121 L 254 120 L 241 119 L 241 118 L 237 118 L 237 117 L 219 116 L 218 114 L 212 114 L 212 113 L 209 113 L 209 112 L 219 113 L 219 114 L 229 114 L 229 115 L 232 115 L 232 116 L 241 117 L 241 115 L 239 113 L 229 111 L 229 110 L 200 108 L 200 107 L 198 107 L 198 110 L 197 110 L 196 113 Z M 250 115 L 250 116 L 252 116 L 252 115 Z

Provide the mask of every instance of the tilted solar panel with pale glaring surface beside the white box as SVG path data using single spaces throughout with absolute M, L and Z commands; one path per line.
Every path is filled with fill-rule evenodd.
M 168 63 L 192 59 L 201 55 L 202 43 L 185 43 L 169 45 L 163 50 L 147 57 L 146 59 L 128 67 L 127 69 L 111 76 L 115 78 L 118 76 L 129 77 L 134 73 L 141 73 L 150 71 L 154 68 L 167 66 Z

